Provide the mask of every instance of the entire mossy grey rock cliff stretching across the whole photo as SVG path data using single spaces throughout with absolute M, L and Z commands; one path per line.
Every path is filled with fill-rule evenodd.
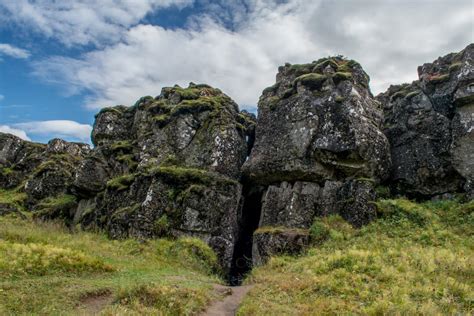
M 0 134 L 0 214 L 25 210 L 112 238 L 197 236 L 231 282 L 268 256 L 304 249 L 315 217 L 354 226 L 377 195 L 474 189 L 474 45 L 374 97 L 340 56 L 286 64 L 258 118 L 219 89 L 163 88 L 96 115 L 94 147 Z

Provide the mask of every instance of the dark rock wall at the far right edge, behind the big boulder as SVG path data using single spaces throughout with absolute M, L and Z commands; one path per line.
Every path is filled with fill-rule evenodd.
M 474 45 L 420 66 L 418 74 L 419 81 L 377 96 L 391 143 L 389 184 L 416 197 L 472 191 Z

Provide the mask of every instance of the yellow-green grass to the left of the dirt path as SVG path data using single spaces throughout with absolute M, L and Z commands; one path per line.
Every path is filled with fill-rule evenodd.
M 193 315 L 212 299 L 215 254 L 201 240 L 109 240 L 0 217 L 0 314 Z

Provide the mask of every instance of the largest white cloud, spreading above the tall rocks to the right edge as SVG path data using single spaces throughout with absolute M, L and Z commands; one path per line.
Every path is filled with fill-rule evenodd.
M 49 58 L 35 64 L 36 73 L 90 93 L 92 108 L 132 104 L 189 81 L 219 87 L 245 107 L 274 83 L 278 65 L 333 54 L 358 60 L 381 92 L 416 79 L 418 65 L 464 48 L 474 27 L 471 0 L 251 0 L 227 11 L 225 1 L 209 3 L 217 21 L 201 15 L 187 29 L 132 26 L 118 43 L 78 59 Z

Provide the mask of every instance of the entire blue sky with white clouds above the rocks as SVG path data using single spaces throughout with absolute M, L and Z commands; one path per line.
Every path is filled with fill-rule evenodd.
M 474 0 L 0 0 L 0 132 L 90 143 L 100 108 L 207 83 L 256 112 L 279 65 L 344 55 L 374 94 L 474 42 Z

